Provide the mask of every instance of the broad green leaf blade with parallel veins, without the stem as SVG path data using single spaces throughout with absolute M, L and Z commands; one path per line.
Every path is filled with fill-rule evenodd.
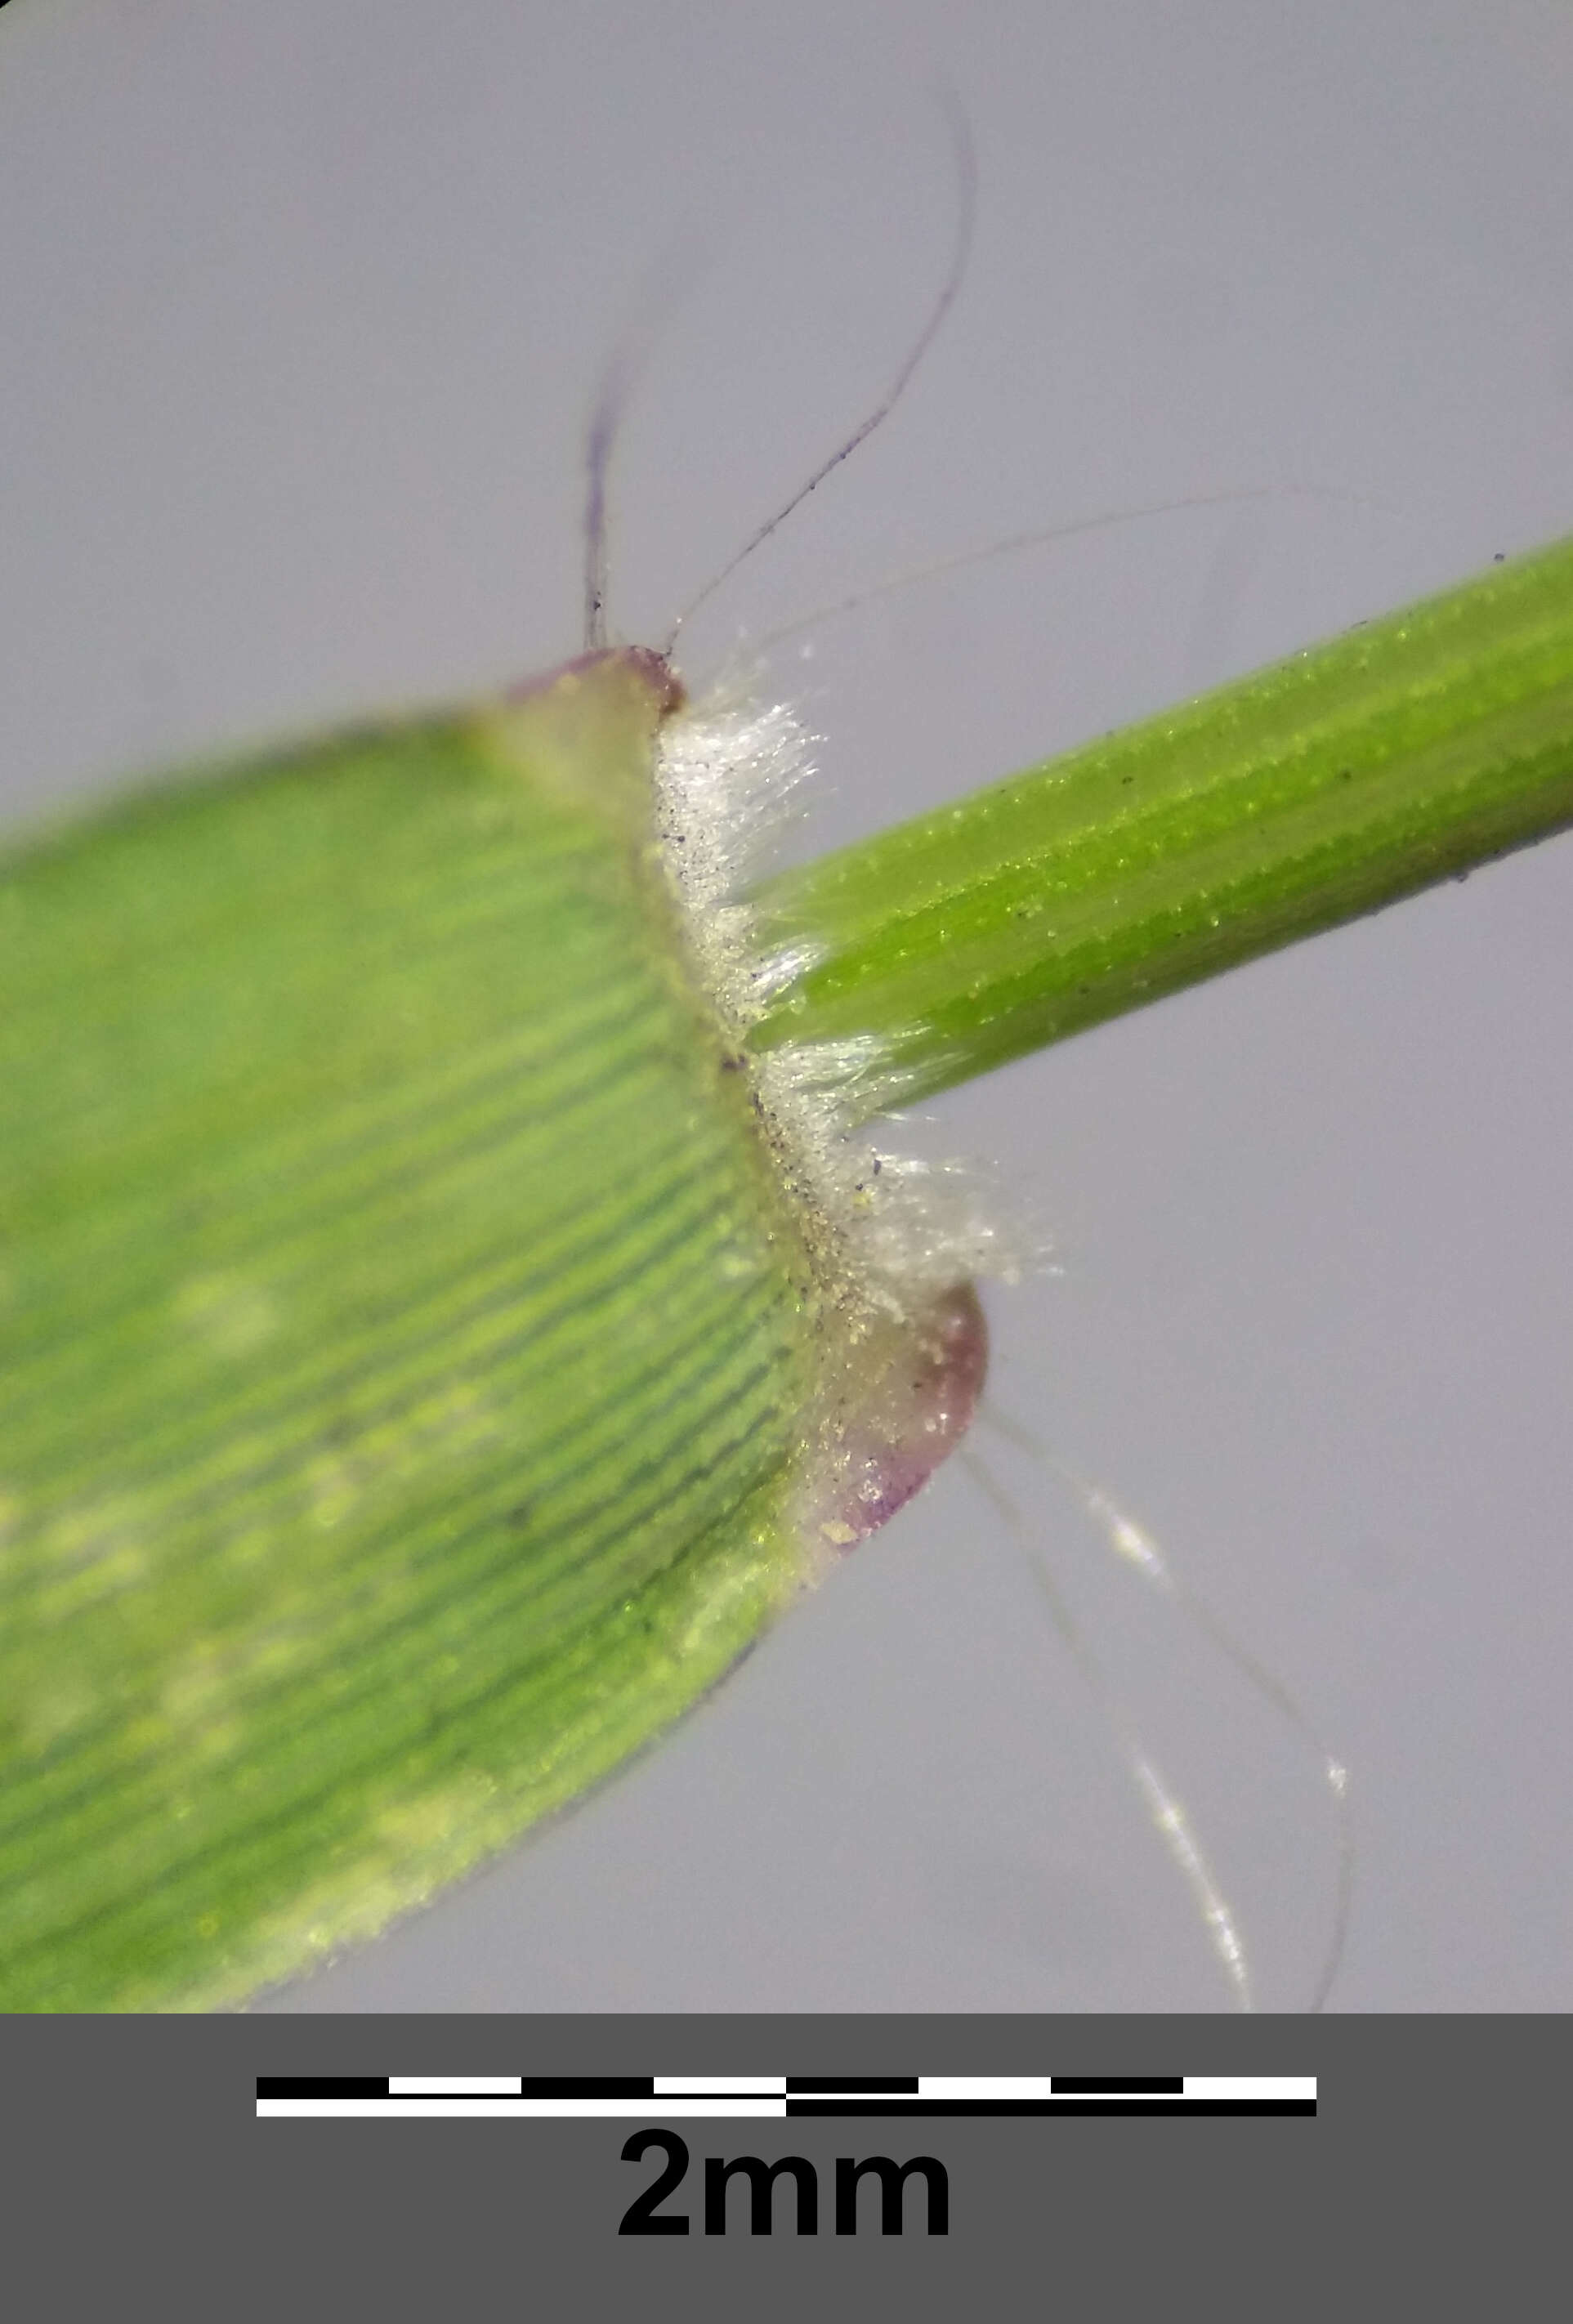
M 665 686 L 609 655 L 0 867 L 7 2008 L 381 1927 L 827 1555 L 883 1343 L 651 867 Z

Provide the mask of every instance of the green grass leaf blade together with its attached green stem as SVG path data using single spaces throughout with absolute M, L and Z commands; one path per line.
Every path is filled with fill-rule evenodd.
M 0 2006 L 237 1999 L 692 1703 L 983 1367 L 813 1046 L 941 1088 L 1571 820 L 1573 544 L 769 883 L 750 1032 L 671 697 L 592 655 L 0 860 Z

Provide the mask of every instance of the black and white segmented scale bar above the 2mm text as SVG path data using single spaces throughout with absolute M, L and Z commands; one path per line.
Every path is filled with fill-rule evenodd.
M 258 2075 L 258 2115 L 723 2122 L 795 2115 L 1315 2115 L 1313 2075 Z

